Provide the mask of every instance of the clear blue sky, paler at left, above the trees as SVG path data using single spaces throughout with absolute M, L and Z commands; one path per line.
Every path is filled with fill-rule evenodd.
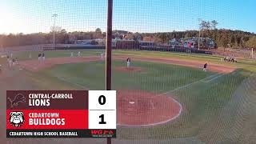
M 0 0 L 0 34 L 106 31 L 107 0 Z M 256 0 L 114 0 L 113 30 L 171 32 L 198 30 L 198 18 L 218 28 L 256 33 Z

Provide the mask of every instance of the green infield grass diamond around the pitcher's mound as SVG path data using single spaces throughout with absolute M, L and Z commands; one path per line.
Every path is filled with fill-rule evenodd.
M 113 88 L 116 90 L 132 89 L 162 93 L 214 74 L 184 66 L 154 62 L 133 62 L 133 66 L 142 68 L 142 72 L 137 73 L 120 72 L 115 70 L 116 66 L 125 66 L 125 63 L 113 62 Z M 86 86 L 90 90 L 104 90 L 105 88 L 104 62 L 59 65 L 42 73 Z

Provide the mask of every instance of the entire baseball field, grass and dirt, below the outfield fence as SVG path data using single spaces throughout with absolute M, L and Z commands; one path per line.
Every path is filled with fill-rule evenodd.
M 18 63 L 11 68 L 6 58 L 0 58 L 0 111 L 6 109 L 3 103 L 6 90 L 104 90 L 105 59 L 100 57 L 103 50 L 79 51 L 81 57 L 75 56 L 78 50 L 45 51 L 43 62 L 38 61 L 38 51 L 17 52 L 14 58 L 18 58 Z M 71 52 L 74 52 L 72 58 Z M 126 58 L 131 58 L 129 69 Z M 202 66 L 206 62 L 205 72 Z M 114 143 L 256 141 L 253 60 L 230 63 L 222 62 L 216 55 L 114 50 L 112 70 L 113 90 L 118 90 L 118 135 Z M 0 116 L 5 119 L 5 113 Z M 1 125 L 3 139 L 6 139 L 5 129 Z M 66 142 L 65 139 L 42 142 L 46 141 Z M 6 142 L 18 140 L 6 139 Z

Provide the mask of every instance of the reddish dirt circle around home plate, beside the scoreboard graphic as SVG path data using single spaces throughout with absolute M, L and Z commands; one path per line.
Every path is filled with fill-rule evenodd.
M 170 95 L 142 90 L 117 91 L 120 126 L 155 126 L 170 122 L 182 113 L 182 105 Z

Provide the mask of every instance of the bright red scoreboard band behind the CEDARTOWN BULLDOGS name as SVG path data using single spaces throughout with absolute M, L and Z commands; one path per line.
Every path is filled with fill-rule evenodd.
M 23 112 L 25 121 L 22 126 L 10 124 L 10 112 L 13 111 Z M 58 114 L 58 117 L 33 118 L 35 114 L 42 113 Z M 34 122 L 40 123 L 34 125 Z M 6 110 L 6 129 L 88 129 L 88 110 Z

